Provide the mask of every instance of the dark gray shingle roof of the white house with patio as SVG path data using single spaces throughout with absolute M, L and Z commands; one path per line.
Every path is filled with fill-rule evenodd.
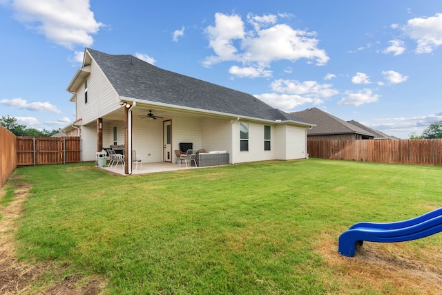
M 132 55 L 86 48 L 119 96 L 263 120 L 307 121 L 272 108 L 253 95 L 163 70 Z

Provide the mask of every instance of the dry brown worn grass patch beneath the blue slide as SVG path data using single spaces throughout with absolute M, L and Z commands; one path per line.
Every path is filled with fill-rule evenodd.
M 345 257 L 338 254 L 335 238 L 327 233 L 323 237 L 316 251 L 334 269 L 331 286 L 345 292 L 368 287 L 381 294 L 442 294 L 442 254 L 436 247 L 416 251 L 406 242 L 364 242 L 354 257 Z

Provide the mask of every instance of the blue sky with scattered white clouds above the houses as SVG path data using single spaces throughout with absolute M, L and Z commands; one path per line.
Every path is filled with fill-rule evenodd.
M 0 117 L 75 121 L 84 48 L 398 138 L 442 120 L 441 0 L 0 0 Z

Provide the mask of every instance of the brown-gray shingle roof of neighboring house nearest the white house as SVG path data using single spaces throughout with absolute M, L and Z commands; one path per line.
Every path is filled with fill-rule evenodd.
M 307 130 L 307 135 L 361 134 L 371 137 L 376 136 L 354 124 L 321 111 L 319 108 L 307 108 L 304 111 L 293 112 L 291 115 L 316 124 L 316 127 Z

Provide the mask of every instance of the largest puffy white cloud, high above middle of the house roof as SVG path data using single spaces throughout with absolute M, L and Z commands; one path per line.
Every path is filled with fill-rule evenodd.
M 239 15 L 215 14 L 215 25 L 206 28 L 209 46 L 215 55 L 206 57 L 204 66 L 222 61 L 238 61 L 247 68 L 268 68 L 273 61 L 307 59 L 327 64 L 329 57 L 318 48 L 316 32 L 295 30 L 277 23 L 285 15 L 247 15 L 251 28 Z

